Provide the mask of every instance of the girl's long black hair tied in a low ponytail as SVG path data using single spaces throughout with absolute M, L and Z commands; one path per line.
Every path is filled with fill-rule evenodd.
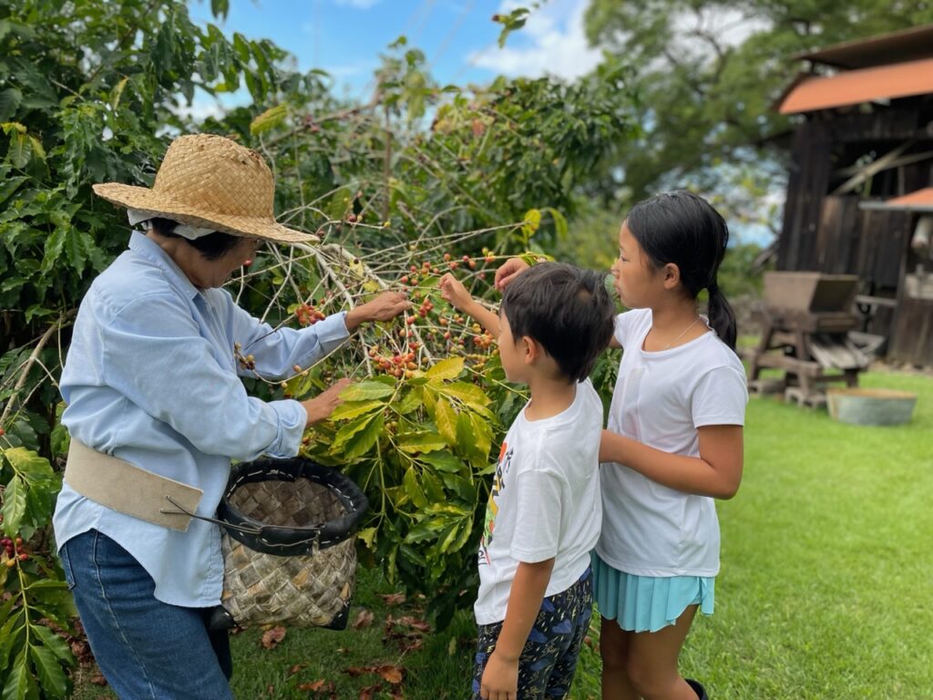
M 703 197 L 678 189 L 635 204 L 626 222 L 655 269 L 669 262 L 679 268 L 690 299 L 709 291 L 709 325 L 734 350 L 735 314 L 717 282 L 729 244 L 725 219 Z

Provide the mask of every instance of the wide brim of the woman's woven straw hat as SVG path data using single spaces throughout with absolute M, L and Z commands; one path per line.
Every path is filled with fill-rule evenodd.
M 320 239 L 312 233 L 288 229 L 282 224 L 259 217 L 233 217 L 214 214 L 185 203 L 176 202 L 152 189 L 110 182 L 94 185 L 94 192 L 107 202 L 149 212 L 153 217 L 171 218 L 181 224 L 214 229 L 235 236 L 255 236 L 275 243 L 316 243 Z

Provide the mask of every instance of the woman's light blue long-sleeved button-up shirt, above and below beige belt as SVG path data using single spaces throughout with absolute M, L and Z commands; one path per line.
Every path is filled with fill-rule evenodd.
M 194 287 L 159 245 L 134 232 L 130 249 L 81 301 L 62 372 L 62 422 L 89 447 L 202 489 L 198 514 L 213 517 L 230 459 L 297 455 L 307 417 L 298 401 L 246 394 L 234 343 L 256 357 L 260 375 L 281 378 L 341 344 L 348 336 L 344 318 L 273 331 L 225 289 Z M 91 528 L 115 539 L 146 568 L 165 603 L 220 602 L 217 525 L 192 519 L 187 532 L 153 525 L 82 497 L 67 483 L 52 523 L 59 546 Z

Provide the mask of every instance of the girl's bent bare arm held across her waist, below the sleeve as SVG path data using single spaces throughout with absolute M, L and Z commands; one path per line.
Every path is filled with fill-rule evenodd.
M 688 457 L 603 430 L 599 461 L 619 462 L 677 491 L 714 498 L 735 496 L 742 481 L 742 426 L 703 426 L 697 432 L 700 456 Z

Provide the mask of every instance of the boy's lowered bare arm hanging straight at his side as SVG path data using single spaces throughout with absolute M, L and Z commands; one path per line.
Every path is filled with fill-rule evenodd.
M 484 700 L 507 700 L 516 697 L 519 682 L 519 657 L 535 624 L 541 601 L 548 589 L 554 559 L 529 564 L 520 562 L 508 593 L 508 608 L 495 651 L 486 662 L 480 684 Z

